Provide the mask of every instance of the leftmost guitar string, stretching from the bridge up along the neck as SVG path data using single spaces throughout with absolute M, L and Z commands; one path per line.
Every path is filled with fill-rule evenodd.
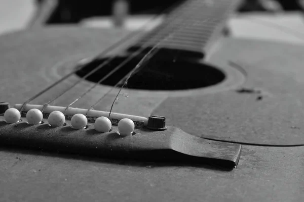
M 102 56 L 104 56 L 106 53 L 112 51 L 113 49 L 119 47 L 121 44 L 129 41 L 132 38 L 138 37 L 138 35 L 140 34 L 145 34 L 145 32 L 143 31 L 145 29 L 145 27 L 148 27 L 151 23 L 153 23 L 153 21 L 157 18 L 159 18 L 161 15 L 165 14 L 165 13 L 170 13 L 175 7 L 177 7 L 177 5 L 180 4 L 181 1 L 176 2 L 174 5 L 170 6 L 169 8 L 164 9 L 163 11 L 161 11 L 161 13 L 159 15 L 156 15 L 154 17 L 152 17 L 151 19 L 149 19 L 149 21 L 143 25 L 142 27 L 138 28 L 138 30 L 132 31 L 131 33 L 129 33 L 127 36 L 125 36 L 124 38 L 122 38 L 121 40 L 119 40 L 118 42 L 112 44 L 111 46 L 109 46 L 108 48 L 105 49 L 105 51 L 103 51 L 101 54 L 97 55 L 96 57 L 94 57 L 91 61 L 97 60 L 99 58 L 101 58 Z M 138 32 L 139 31 L 139 32 Z M 115 56 L 116 57 L 116 56 Z M 112 58 L 115 58 L 112 57 Z M 86 64 L 84 64 L 86 65 Z M 59 83 L 61 83 L 62 81 L 66 80 L 68 77 L 70 77 L 71 75 L 73 75 L 74 73 L 76 73 L 77 71 L 79 71 L 81 68 L 84 67 L 84 65 L 80 65 L 77 68 L 75 68 L 72 72 L 68 73 L 67 75 L 65 75 L 64 77 L 62 77 L 61 79 L 57 80 L 55 83 L 51 84 L 50 86 L 46 87 L 45 89 L 43 89 L 42 91 L 40 91 L 39 93 L 35 94 L 34 96 L 30 97 L 29 99 L 27 99 L 21 106 L 20 108 L 20 112 L 22 112 L 25 108 L 25 106 L 27 104 L 29 104 L 32 100 L 34 100 L 35 98 L 41 96 L 42 94 L 44 94 L 46 91 L 50 90 L 51 88 L 53 88 L 54 86 L 58 85 Z M 101 64 L 103 65 L 103 64 Z M 101 66 L 100 65 L 100 66 Z M 99 68 L 100 66 L 97 66 L 96 68 Z M 94 69 L 92 70 L 94 71 Z M 90 74 L 90 72 L 88 72 L 87 74 Z M 86 76 L 86 75 L 85 75 Z M 82 79 L 80 79 L 82 80 Z M 72 85 L 73 86 L 73 85 Z M 51 103 L 51 102 L 50 102 Z M 47 105 L 45 104 L 45 107 Z M 44 109 L 45 109 L 44 107 Z M 44 110 L 43 109 L 43 110 Z

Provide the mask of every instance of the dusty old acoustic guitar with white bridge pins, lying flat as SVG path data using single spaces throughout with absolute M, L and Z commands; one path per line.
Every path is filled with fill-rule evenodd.
M 184 1 L 147 34 L 1 36 L 0 113 L 21 113 L 0 116 L 1 200 L 302 201 L 304 47 L 225 37 L 238 4 Z M 48 124 L 55 110 L 61 127 Z M 86 127 L 71 127 L 75 114 Z M 100 116 L 109 132 L 94 129 Z

